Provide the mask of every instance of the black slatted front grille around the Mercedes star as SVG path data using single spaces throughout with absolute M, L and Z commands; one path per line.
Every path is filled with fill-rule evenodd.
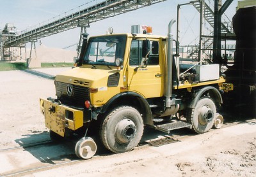
M 72 94 L 70 96 L 67 94 L 68 85 L 72 88 Z M 55 88 L 56 96 L 60 99 L 61 103 L 83 105 L 84 101 L 90 101 L 90 88 L 88 87 L 55 81 Z

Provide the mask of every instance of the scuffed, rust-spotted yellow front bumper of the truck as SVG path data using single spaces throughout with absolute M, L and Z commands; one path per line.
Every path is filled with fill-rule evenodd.
M 57 103 L 54 99 L 40 98 L 40 110 L 45 126 L 64 137 L 65 128 L 76 131 L 83 127 L 83 111 Z

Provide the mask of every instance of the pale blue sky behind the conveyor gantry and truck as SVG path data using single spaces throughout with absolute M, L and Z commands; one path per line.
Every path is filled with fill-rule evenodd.
M 102 0 L 0 0 L 0 30 L 3 29 L 6 23 L 11 23 L 17 27 L 18 31 L 23 31 L 35 25 L 47 23 L 53 18 L 63 17 L 65 14 L 79 11 L 100 2 Z M 177 18 L 177 4 L 188 2 L 189 0 L 166 0 L 136 11 L 130 11 L 92 23 L 87 32 L 90 36 L 106 34 L 108 28 L 113 27 L 114 33 L 126 33 L 131 32 L 131 25 L 140 24 L 152 26 L 153 34 L 166 36 L 168 23 L 172 18 Z M 214 4 L 213 0 L 211 2 Z M 225 12 L 230 20 L 236 13 L 236 6 L 237 0 L 234 0 Z M 200 14 L 193 6 L 182 6 L 180 10 L 180 45 L 198 43 L 199 17 Z M 173 26 L 173 38 L 176 38 L 175 26 L 176 24 Z M 80 28 L 77 27 L 40 40 L 45 46 L 65 48 L 78 43 L 79 35 Z M 69 49 L 76 50 L 75 48 Z

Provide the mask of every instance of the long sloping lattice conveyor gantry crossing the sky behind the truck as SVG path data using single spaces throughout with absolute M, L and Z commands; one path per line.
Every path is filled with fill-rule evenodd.
M 137 10 L 166 0 L 107 0 L 101 3 L 76 11 L 65 17 L 56 19 L 48 24 L 41 25 L 31 31 L 24 31 L 18 36 L 11 36 L 3 43 L 4 46 L 20 46 L 24 43 L 37 41 L 40 38 L 51 36 L 58 32 L 67 31 L 76 27 L 88 26 L 104 18 L 114 17 L 122 13 Z

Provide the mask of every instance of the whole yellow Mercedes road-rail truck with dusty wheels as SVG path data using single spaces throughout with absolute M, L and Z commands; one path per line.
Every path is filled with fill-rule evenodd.
M 51 138 L 84 129 L 75 152 L 89 159 L 97 150 L 86 137 L 90 130 L 108 150 L 121 153 L 138 145 L 145 126 L 167 133 L 188 127 L 199 134 L 220 127 L 216 110 L 232 85 L 218 64 L 179 63 L 172 51 L 174 22 L 168 36 L 83 34 L 77 66 L 55 78 L 56 98 L 40 99 Z

